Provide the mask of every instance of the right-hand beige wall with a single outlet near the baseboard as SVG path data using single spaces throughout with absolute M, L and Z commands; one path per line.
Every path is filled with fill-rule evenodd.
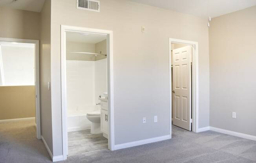
M 256 6 L 213 18 L 209 44 L 210 126 L 256 136 Z

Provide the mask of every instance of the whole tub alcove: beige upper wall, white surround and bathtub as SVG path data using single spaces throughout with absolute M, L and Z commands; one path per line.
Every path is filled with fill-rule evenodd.
M 67 42 L 67 52 L 106 54 L 106 40 L 99 43 Z M 68 132 L 90 129 L 86 113 L 99 110 L 98 97 L 107 92 L 106 56 L 67 53 Z M 103 58 L 103 59 L 102 59 Z

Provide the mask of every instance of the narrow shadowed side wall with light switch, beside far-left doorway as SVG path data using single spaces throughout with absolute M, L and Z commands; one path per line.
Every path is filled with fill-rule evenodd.
M 40 14 L 40 111 L 41 135 L 53 152 L 51 91 L 51 0 L 45 0 Z

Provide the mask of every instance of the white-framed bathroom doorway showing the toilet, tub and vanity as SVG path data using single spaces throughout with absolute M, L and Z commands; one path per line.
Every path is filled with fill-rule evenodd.
M 62 26 L 64 159 L 111 150 L 110 34 L 111 31 Z

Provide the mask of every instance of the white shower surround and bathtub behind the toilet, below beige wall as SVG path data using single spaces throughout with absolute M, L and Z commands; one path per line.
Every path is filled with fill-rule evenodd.
M 97 61 L 67 60 L 68 132 L 90 129 L 86 114 L 100 110 L 98 97 L 107 91 L 106 58 Z

